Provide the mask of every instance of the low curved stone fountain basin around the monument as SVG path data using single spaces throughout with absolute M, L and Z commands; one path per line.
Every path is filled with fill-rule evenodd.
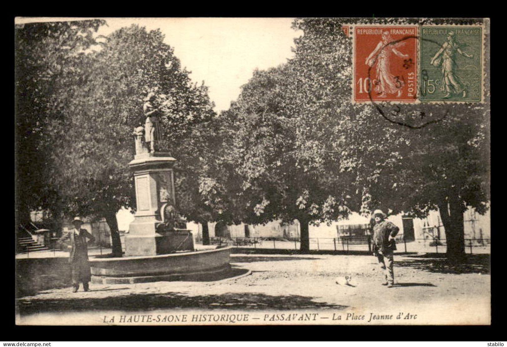
M 175 281 L 185 277 L 208 275 L 230 270 L 231 247 L 214 250 L 131 256 L 90 258 L 92 283 L 132 284 Z

